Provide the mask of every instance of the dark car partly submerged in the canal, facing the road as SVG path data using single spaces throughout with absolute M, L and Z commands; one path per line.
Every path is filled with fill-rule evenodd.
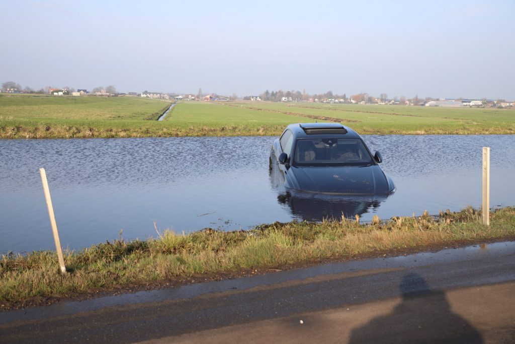
M 273 142 L 270 173 L 286 190 L 329 195 L 388 195 L 393 181 L 354 130 L 339 123 L 296 123 Z M 274 172 L 275 171 L 275 172 Z

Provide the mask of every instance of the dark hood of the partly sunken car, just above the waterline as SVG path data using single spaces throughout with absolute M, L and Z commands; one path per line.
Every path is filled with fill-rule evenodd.
M 388 194 L 388 181 L 381 168 L 371 166 L 293 167 L 296 188 L 334 194 Z

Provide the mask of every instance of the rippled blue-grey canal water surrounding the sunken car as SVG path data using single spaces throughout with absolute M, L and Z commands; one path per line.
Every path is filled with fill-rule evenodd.
M 63 247 L 166 229 L 248 229 L 360 214 L 421 215 L 480 207 L 482 147 L 491 206 L 515 206 L 515 136 L 363 136 L 396 183 L 388 198 L 302 198 L 269 175 L 273 137 L 0 140 L 0 253 L 53 249 L 44 167 Z

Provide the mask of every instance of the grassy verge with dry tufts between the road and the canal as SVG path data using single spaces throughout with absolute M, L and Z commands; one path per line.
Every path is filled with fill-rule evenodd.
M 413 252 L 456 243 L 515 237 L 515 208 L 491 212 L 490 227 L 468 208 L 434 218 L 392 218 L 372 223 L 324 221 L 262 225 L 251 231 L 164 232 L 156 239 L 118 240 L 66 252 L 69 272 L 59 273 L 54 252 L 3 255 L 0 305 L 93 294 L 116 288 L 180 284 L 191 276 L 282 269 L 324 259 L 351 259 L 388 252 Z M 0 308 L 1 309 L 1 308 Z

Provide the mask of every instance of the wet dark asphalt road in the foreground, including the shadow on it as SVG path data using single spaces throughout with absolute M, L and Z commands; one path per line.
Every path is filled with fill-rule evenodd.
M 512 342 L 514 295 L 507 242 L 0 313 L 0 341 Z

